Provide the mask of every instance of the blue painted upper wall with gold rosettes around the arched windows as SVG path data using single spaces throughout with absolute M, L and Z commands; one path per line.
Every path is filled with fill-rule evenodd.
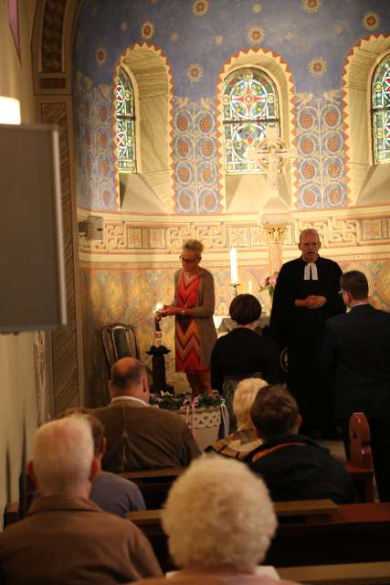
M 151 26 L 145 28 L 147 23 Z M 145 30 L 153 34 L 142 36 Z M 85 0 L 74 49 L 79 205 L 116 208 L 111 152 L 113 70 L 127 47 L 146 40 L 163 49 L 173 71 L 174 96 L 188 98 L 192 112 L 202 110 L 201 98 L 215 101 L 220 69 L 238 50 L 277 51 L 292 71 L 297 93 L 312 94 L 310 101 L 298 100 L 296 106 L 299 205 L 343 207 L 344 59 L 361 38 L 389 32 L 388 0 Z M 320 59 L 317 71 L 312 69 L 312 59 Z M 202 68 L 199 80 L 188 75 L 192 63 Z M 324 95 L 329 90 L 335 90 L 331 101 Z M 304 116 L 305 108 L 314 116 L 312 124 Z M 174 119 L 179 111 L 176 106 Z M 180 135 L 174 126 L 174 144 Z M 188 138 L 201 152 L 194 136 Z M 207 138 L 211 141 L 207 152 L 213 152 L 215 129 Z M 182 160 L 176 152 L 176 211 L 217 211 L 217 180 L 210 182 L 217 173 L 216 155 L 207 159 L 205 177 L 201 174 L 190 184 L 184 184 L 184 174 L 178 172 Z M 196 172 L 193 168 L 193 176 Z

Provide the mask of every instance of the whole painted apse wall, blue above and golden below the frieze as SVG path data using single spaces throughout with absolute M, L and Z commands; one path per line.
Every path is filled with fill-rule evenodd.
M 353 75 L 363 82 L 358 67 L 363 53 L 356 48 L 368 44 L 369 58 L 377 58 L 388 48 L 389 24 L 390 5 L 381 0 L 117 0 L 110 11 L 102 0 L 84 0 L 73 53 L 78 214 L 80 221 L 90 215 L 102 221 L 101 241 L 79 236 L 87 401 L 106 399 L 103 324 L 137 325 L 142 357 L 148 359 L 153 307 L 172 300 L 184 239 L 195 237 L 206 245 L 204 265 L 216 279 L 216 314 L 227 314 L 232 298 L 232 246 L 238 250 L 239 292 L 248 292 L 249 282 L 257 292 L 269 273 L 254 183 L 221 173 L 218 83 L 237 55 L 245 55 L 250 65 L 258 64 L 255 58 L 251 62 L 252 54 L 268 56 L 258 65 L 269 67 L 274 77 L 278 59 L 286 64 L 284 84 L 278 80 L 282 128 L 284 136 L 289 131 L 287 143 L 296 157 L 288 180 L 291 221 L 284 260 L 296 257 L 300 229 L 314 227 L 322 254 L 343 269 L 364 270 L 374 303 L 390 308 L 390 197 L 382 177 L 380 196 L 373 196 L 372 183 L 370 196 L 356 205 L 364 184 L 359 163 L 369 153 L 369 104 L 365 101 L 363 108 L 361 99 L 357 105 L 350 100 L 357 82 Z M 119 59 L 135 45 L 160 51 L 171 75 L 164 134 L 169 144 L 159 158 L 167 168 L 158 170 L 172 182 L 167 191 L 157 172 L 129 177 L 124 208 L 113 147 L 113 80 Z M 146 88 L 148 69 L 142 74 Z M 144 168 L 148 157 L 155 159 L 153 140 L 142 132 L 139 140 Z M 383 169 L 386 178 L 389 171 Z M 259 176 L 259 202 L 262 185 L 264 176 Z M 173 320 L 163 322 L 163 341 L 172 349 L 173 327 Z M 167 363 L 173 380 L 173 353 Z M 176 382 L 180 386 L 181 380 Z

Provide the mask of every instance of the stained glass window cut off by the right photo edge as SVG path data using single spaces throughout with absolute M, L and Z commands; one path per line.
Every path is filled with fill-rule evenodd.
M 390 55 L 375 69 L 371 93 L 374 164 L 390 163 Z

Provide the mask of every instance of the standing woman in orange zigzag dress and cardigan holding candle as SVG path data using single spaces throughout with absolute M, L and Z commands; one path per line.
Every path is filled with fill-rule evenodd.
M 182 269 L 174 274 L 174 303 L 160 311 L 175 316 L 176 371 L 185 372 L 195 395 L 211 389 L 210 355 L 216 343 L 214 279 L 199 266 L 203 250 L 197 239 L 184 242 Z

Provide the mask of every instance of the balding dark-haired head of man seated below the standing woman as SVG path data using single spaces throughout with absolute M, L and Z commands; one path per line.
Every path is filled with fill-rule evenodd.
M 122 357 L 111 367 L 109 382 L 111 396 L 132 396 L 149 400 L 149 386 L 146 367 L 135 357 Z

